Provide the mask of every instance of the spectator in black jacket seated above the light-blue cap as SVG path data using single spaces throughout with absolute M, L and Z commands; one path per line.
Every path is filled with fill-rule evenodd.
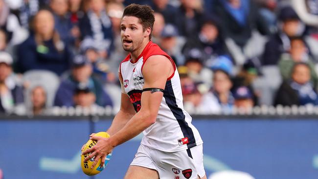
M 214 17 L 204 18 L 200 32 L 194 38 L 187 40 L 182 51 L 185 52 L 194 47 L 203 51 L 204 64 L 208 67 L 218 56 L 228 54 L 217 19 Z

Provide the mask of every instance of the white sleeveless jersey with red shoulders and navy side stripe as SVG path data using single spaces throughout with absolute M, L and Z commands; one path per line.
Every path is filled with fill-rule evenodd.
M 142 68 L 152 55 L 164 55 L 174 64 L 170 56 L 150 41 L 136 63 L 132 63 L 128 55 L 119 67 L 125 92 L 136 112 L 141 108 Z M 198 130 L 191 124 L 191 116 L 183 109 L 180 77 L 175 64 L 174 68 L 174 74 L 167 79 L 156 122 L 143 131 L 141 140 L 143 145 L 164 152 L 181 151 L 203 143 Z

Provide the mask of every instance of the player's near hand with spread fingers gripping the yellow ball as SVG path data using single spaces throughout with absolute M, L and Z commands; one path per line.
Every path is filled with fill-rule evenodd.
M 88 157 L 84 159 L 84 162 L 87 162 L 90 158 L 95 156 L 95 160 L 94 163 L 91 165 L 91 168 L 95 167 L 100 158 L 100 165 L 103 166 L 105 163 L 106 156 L 112 152 L 114 147 L 110 144 L 109 138 L 104 138 L 101 136 L 91 136 L 90 139 L 96 140 L 97 144 L 82 153 L 82 155 L 91 153 Z

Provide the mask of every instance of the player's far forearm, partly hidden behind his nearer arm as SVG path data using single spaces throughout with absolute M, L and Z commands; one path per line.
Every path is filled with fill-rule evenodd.
M 106 131 L 111 136 L 121 130 L 134 114 L 120 110 L 114 117 L 111 127 Z

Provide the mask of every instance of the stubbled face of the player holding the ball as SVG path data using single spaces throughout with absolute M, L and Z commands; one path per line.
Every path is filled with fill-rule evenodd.
M 121 20 L 120 29 L 121 41 L 125 51 L 135 51 L 142 45 L 145 37 L 148 37 L 139 19 L 134 16 L 124 16 Z

